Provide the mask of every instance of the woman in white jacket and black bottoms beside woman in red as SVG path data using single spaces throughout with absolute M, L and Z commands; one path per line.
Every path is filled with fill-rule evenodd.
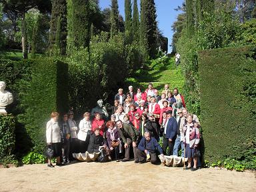
M 79 132 L 77 134 L 77 139 L 79 139 L 79 142 L 80 142 L 81 153 L 85 153 L 85 151 L 87 151 L 90 134 L 91 134 L 90 113 L 85 112 L 85 114 L 83 114 L 83 119 L 79 123 Z

